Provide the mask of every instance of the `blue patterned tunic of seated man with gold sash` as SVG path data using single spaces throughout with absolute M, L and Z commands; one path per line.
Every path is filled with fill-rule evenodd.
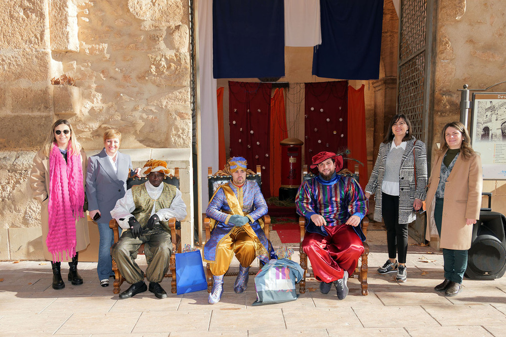
M 227 185 L 234 191 L 237 200 L 241 204 L 242 212 L 249 218 L 249 224 L 255 231 L 255 234 L 257 234 L 260 243 L 267 252 L 270 252 L 267 237 L 258 222 L 258 219 L 267 214 L 267 203 L 260 187 L 255 181 L 251 180 L 246 180 L 241 187 L 237 187 L 232 181 L 229 181 Z M 205 211 L 205 214 L 209 218 L 217 221 L 209 240 L 204 245 L 204 260 L 207 262 L 215 261 L 218 244 L 234 228 L 234 225 L 228 222 L 231 214 L 225 212 L 231 212 L 231 209 L 228 205 L 225 192 L 219 187 Z M 265 263 L 269 262 L 269 257 L 259 256 L 259 258 Z

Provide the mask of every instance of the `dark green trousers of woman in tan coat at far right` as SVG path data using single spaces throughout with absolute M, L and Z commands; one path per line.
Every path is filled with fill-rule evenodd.
M 441 237 L 441 223 L 443 221 L 443 198 L 436 198 L 434 220 Z M 468 266 L 468 251 L 443 248 L 444 277 L 450 281 L 462 283 L 464 272 Z

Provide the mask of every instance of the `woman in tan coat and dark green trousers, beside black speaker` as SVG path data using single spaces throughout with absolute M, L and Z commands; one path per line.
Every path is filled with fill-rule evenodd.
M 480 217 L 483 185 L 480 156 L 473 151 L 468 130 L 451 122 L 441 132 L 441 147 L 431 169 L 427 191 L 427 231 L 437 228 L 443 248 L 444 281 L 434 287 L 446 296 L 460 292 L 468 265 L 473 224 Z

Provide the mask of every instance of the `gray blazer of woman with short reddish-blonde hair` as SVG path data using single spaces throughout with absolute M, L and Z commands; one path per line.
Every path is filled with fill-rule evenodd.
M 111 211 L 116 202 L 123 198 L 126 192 L 126 178 L 128 170 L 132 168 L 129 155 L 118 151 L 118 172 L 114 172 L 111 161 L 107 158 L 105 148 L 97 155 L 88 158 L 86 171 L 86 196 L 88 209 L 99 210 L 101 218 L 98 222 L 109 222 Z

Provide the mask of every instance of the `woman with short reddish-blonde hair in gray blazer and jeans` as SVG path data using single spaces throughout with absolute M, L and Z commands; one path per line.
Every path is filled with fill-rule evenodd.
M 114 235 L 109 228 L 112 219 L 110 212 L 116 206 L 116 201 L 125 195 L 126 178 L 132 168 L 130 156 L 118 151 L 120 143 L 121 133 L 107 130 L 104 133 L 104 149 L 89 158 L 86 171 L 88 209 L 100 233 L 97 272 L 102 286 L 108 286 L 109 277 L 114 275 L 110 252 L 114 244 Z

